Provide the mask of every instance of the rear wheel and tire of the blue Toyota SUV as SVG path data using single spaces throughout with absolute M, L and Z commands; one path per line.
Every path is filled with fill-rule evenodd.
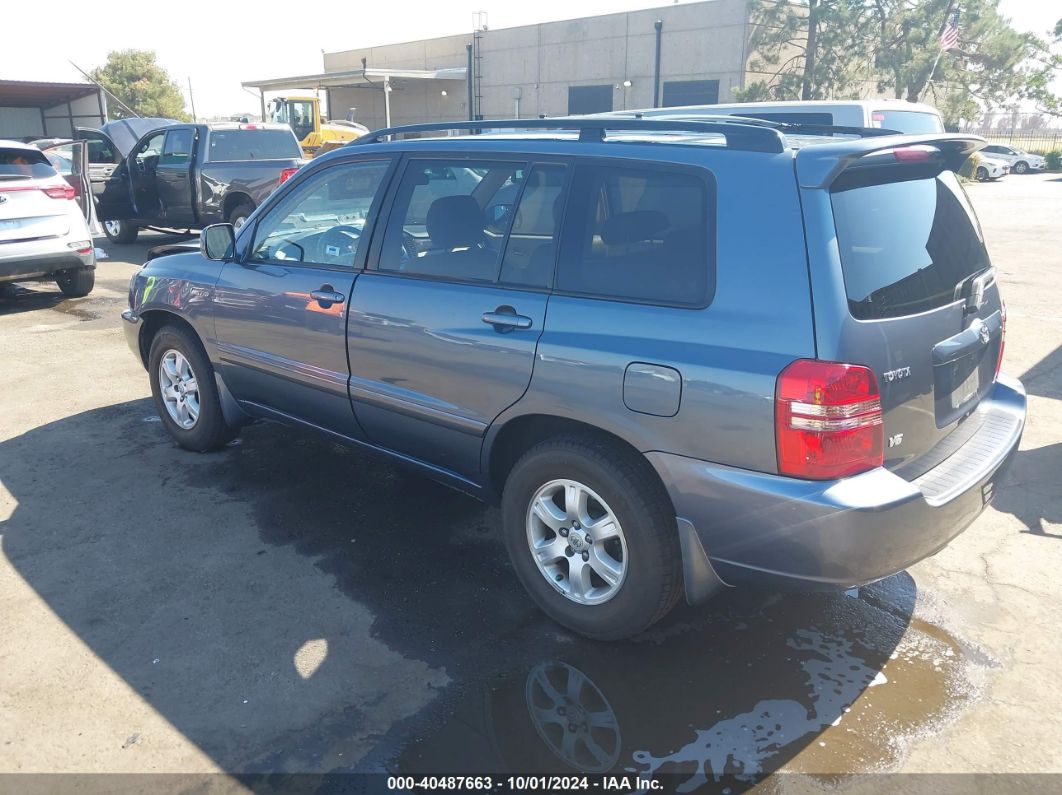
M 648 463 L 618 445 L 564 436 L 533 447 L 506 481 L 502 522 L 528 593 L 580 635 L 632 637 L 679 600 L 674 511 Z

